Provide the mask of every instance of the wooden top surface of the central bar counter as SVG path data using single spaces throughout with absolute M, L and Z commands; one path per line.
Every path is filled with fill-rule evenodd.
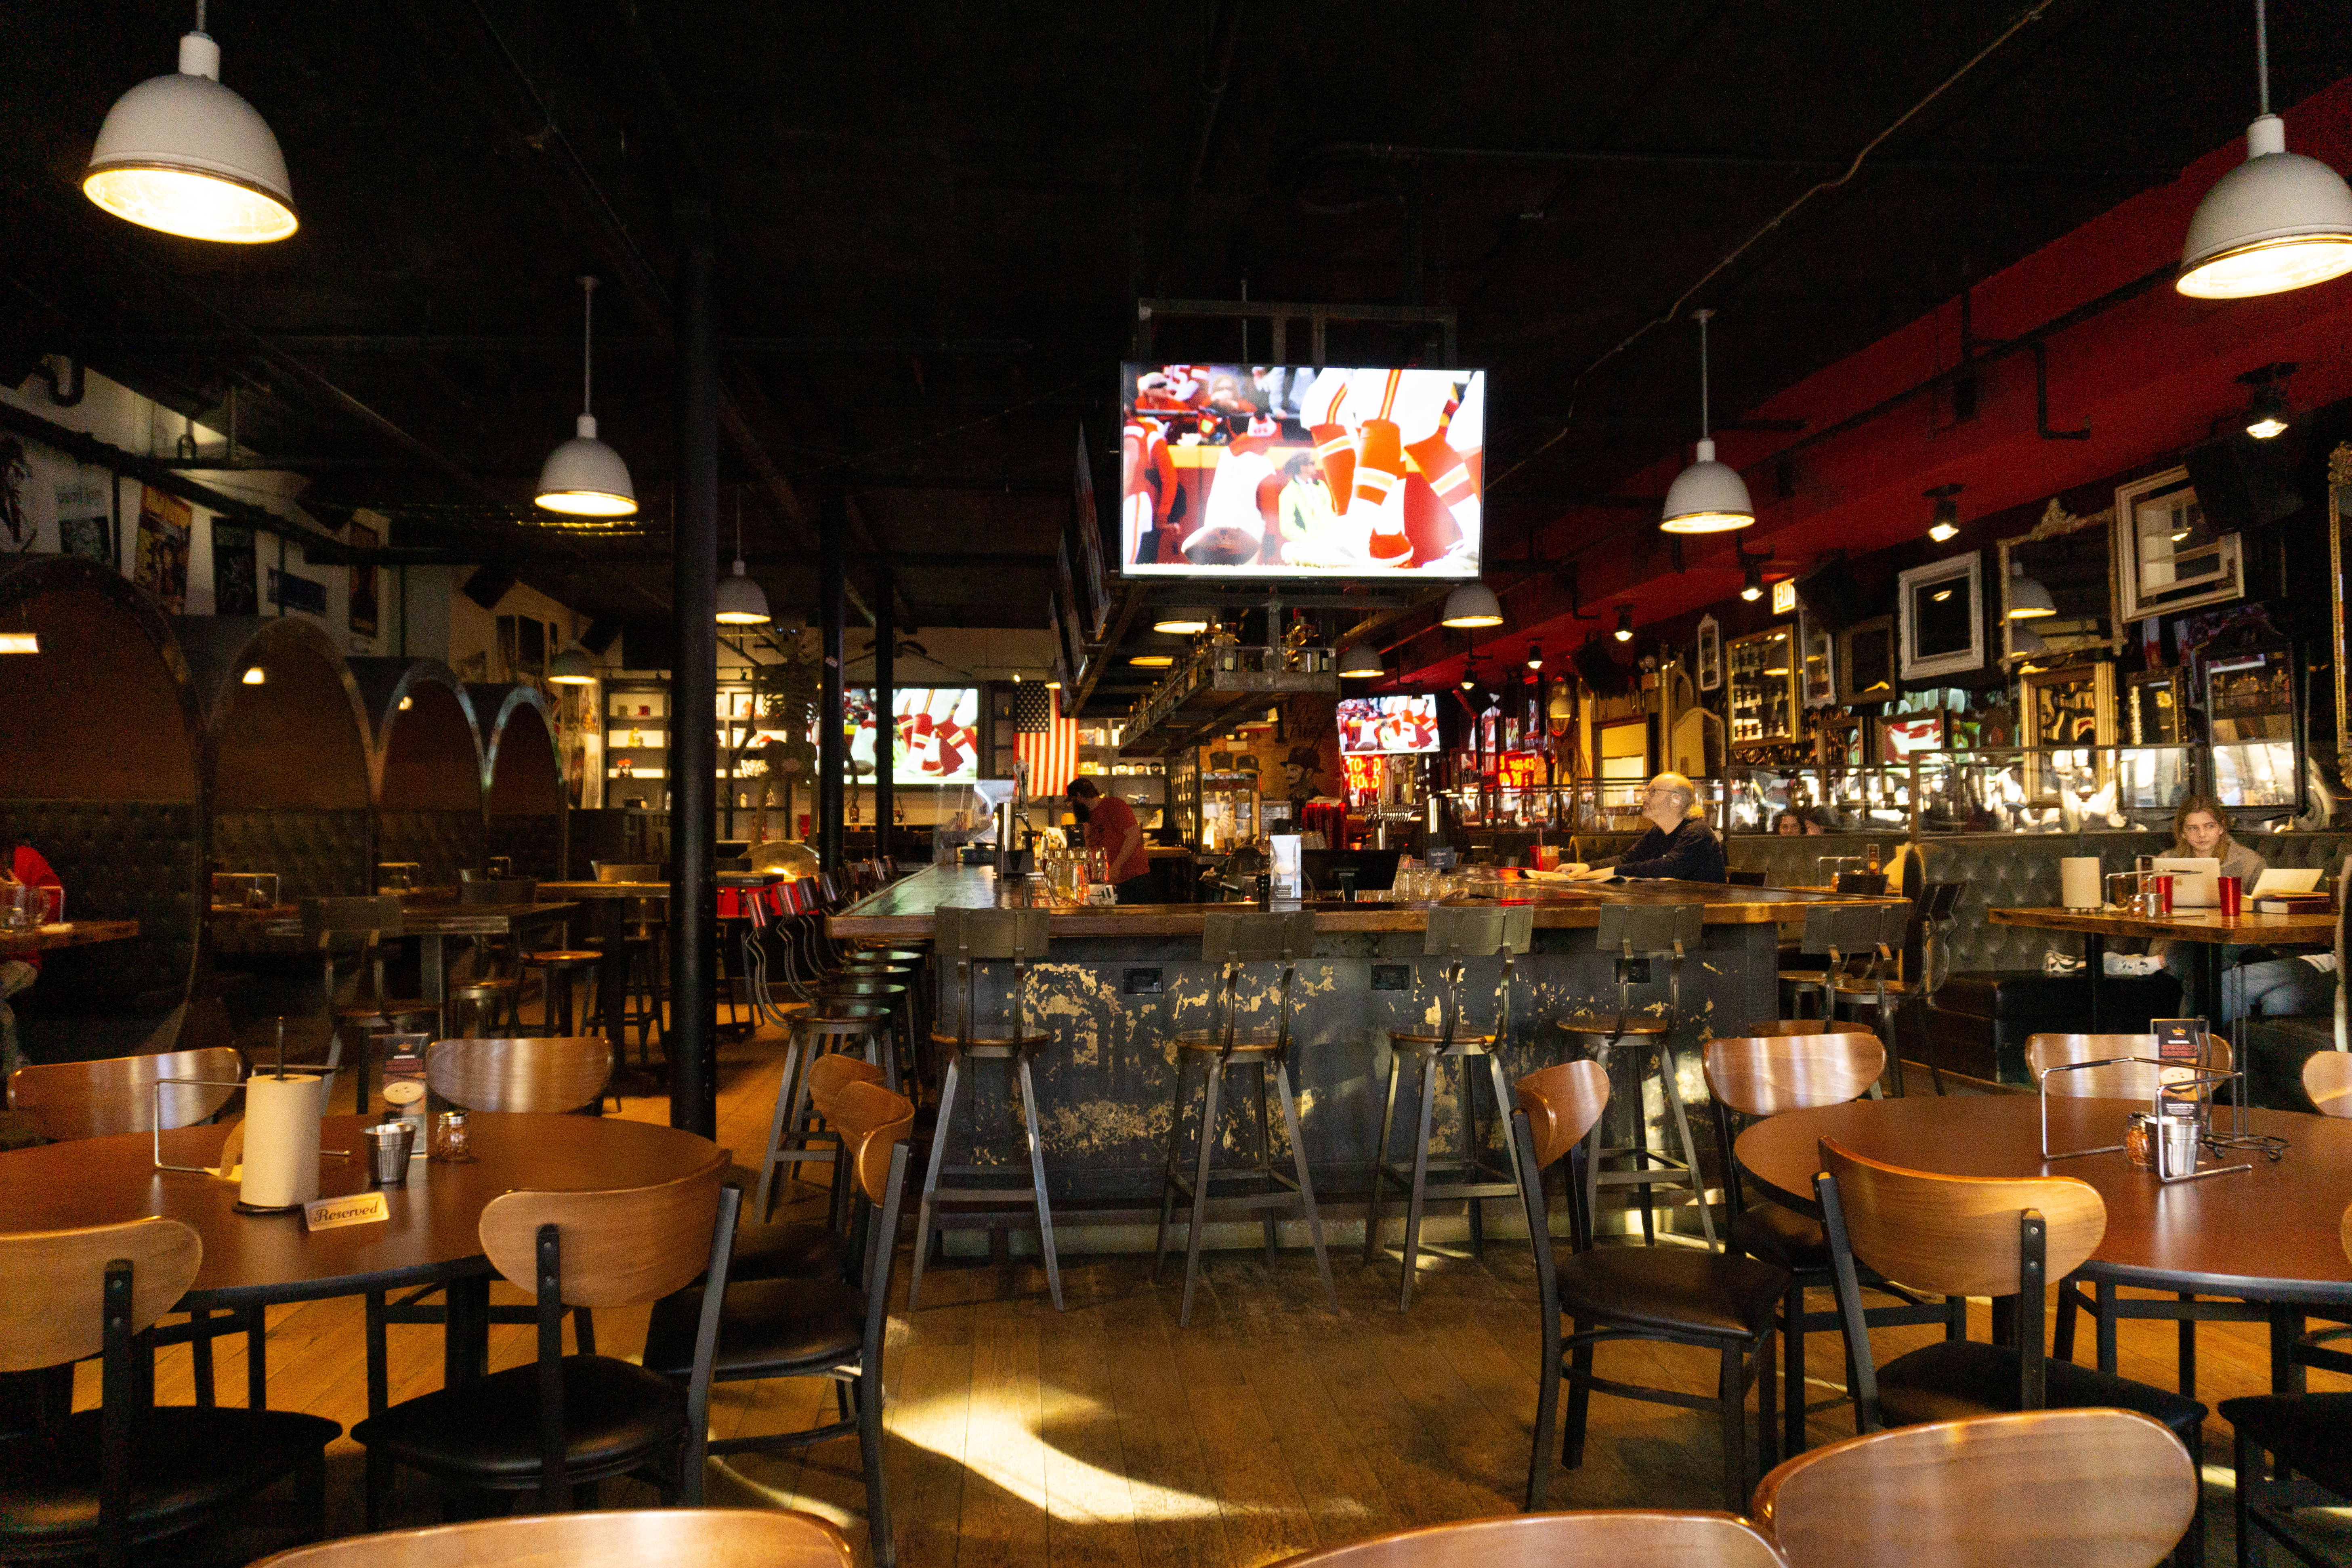
M 1891 903 L 1886 898 L 1837 900 L 1790 889 L 1717 886 L 1708 882 L 1515 882 L 1505 886 L 1534 905 L 1538 929 L 1592 929 L 1602 919 L 1602 907 L 1611 903 L 1696 903 L 1705 905 L 1705 922 L 1710 926 L 1790 926 L 1804 924 L 1804 912 L 1818 903 Z M 1028 900 L 1030 889 L 1037 889 L 1035 905 Z M 988 907 L 1051 907 L 1054 936 L 1200 936 L 1202 914 L 1244 905 L 1049 905 L 1037 882 L 1023 882 L 1018 891 L 1000 889 L 993 865 L 929 865 L 849 905 L 830 917 L 826 929 L 833 936 L 849 938 L 927 938 L 931 936 L 931 914 L 936 910 Z M 1317 931 L 1378 933 L 1423 931 L 1428 926 L 1425 903 L 1336 903 L 1310 898 L 1301 907 L 1315 912 Z

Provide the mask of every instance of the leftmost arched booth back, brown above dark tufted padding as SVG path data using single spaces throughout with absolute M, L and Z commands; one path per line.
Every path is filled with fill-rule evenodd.
M 0 564 L 0 839 L 66 884 L 68 919 L 136 919 L 122 943 L 47 954 L 16 997 L 33 1060 L 174 1048 L 205 919 L 202 701 L 172 618 L 64 555 Z

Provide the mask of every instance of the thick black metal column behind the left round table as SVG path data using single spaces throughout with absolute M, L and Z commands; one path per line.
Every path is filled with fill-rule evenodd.
M 710 212 L 680 212 L 670 668 L 670 1126 L 717 1135 L 720 364 Z M 607 959 L 609 961 L 609 959 Z

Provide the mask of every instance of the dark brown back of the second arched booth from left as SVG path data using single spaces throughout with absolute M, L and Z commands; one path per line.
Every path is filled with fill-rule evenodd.
M 285 903 L 374 891 L 374 731 L 343 651 L 301 616 L 176 630 L 205 715 L 212 870 L 278 872 Z

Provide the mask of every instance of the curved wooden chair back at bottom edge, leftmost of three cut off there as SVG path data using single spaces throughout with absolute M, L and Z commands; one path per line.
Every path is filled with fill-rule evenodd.
M 294 1547 L 254 1568 L 854 1568 L 849 1540 L 790 1509 L 616 1509 L 482 1519 Z

